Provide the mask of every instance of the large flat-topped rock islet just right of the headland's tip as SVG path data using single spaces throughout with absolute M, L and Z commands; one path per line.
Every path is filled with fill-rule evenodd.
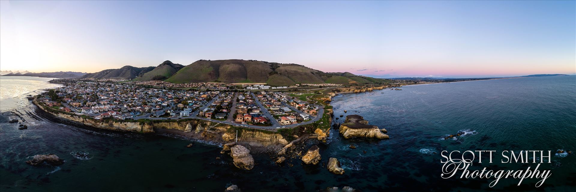
M 364 120 L 360 115 L 346 116 L 346 121 L 340 125 L 339 132 L 347 139 L 353 137 L 389 138 L 388 135 L 378 129 L 378 126 L 368 125 L 368 121 Z

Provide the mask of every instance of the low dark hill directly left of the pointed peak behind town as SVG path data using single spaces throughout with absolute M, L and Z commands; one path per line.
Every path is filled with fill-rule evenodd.
M 156 67 L 132 67 L 123 66 L 120 69 L 106 69 L 96 73 L 88 73 L 81 78 L 109 78 L 115 80 L 131 80 L 145 74 Z

